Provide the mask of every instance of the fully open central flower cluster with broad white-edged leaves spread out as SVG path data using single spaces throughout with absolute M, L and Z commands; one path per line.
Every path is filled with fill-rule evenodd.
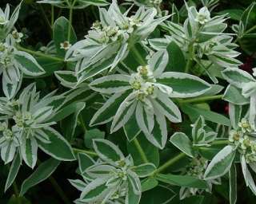
M 200 96 L 210 88 L 210 84 L 198 77 L 186 73 L 165 73 L 167 62 L 166 51 L 158 51 L 150 58 L 148 65 L 138 67 L 137 73 L 114 74 L 91 82 L 90 88 L 94 91 L 114 95 L 95 113 L 90 125 L 104 124 L 114 117 L 110 130 L 114 132 L 136 120 L 150 143 L 159 148 L 165 147 L 166 118 L 174 123 L 182 120 L 181 112 L 170 98 Z M 186 92 L 181 88 L 183 80 L 197 84 L 196 89 Z M 108 111 L 113 105 L 117 107 L 117 112 L 110 115 Z

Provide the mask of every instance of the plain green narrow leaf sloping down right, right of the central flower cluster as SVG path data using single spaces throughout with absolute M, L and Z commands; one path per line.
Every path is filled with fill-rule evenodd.
M 230 126 L 230 120 L 226 118 L 226 116 L 222 116 L 216 112 L 212 112 L 202 108 L 197 108 L 190 104 L 182 104 L 181 108 L 183 112 L 190 116 L 190 119 L 192 121 L 197 120 L 199 116 L 203 116 L 205 120 L 214 122 L 216 124 Z

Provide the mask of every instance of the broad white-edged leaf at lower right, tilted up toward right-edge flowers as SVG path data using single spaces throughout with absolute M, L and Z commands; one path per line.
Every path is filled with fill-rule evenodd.
M 230 145 L 219 151 L 209 163 L 204 175 L 205 179 L 216 179 L 225 175 L 230 170 L 235 153 L 234 147 Z

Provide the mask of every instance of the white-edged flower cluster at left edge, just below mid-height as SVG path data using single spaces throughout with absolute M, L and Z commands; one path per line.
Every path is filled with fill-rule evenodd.
M 62 139 L 70 149 L 62 135 L 50 128 L 55 124 L 50 118 L 58 109 L 54 108 L 54 101 L 58 100 L 62 100 L 62 96 L 53 96 L 53 93 L 39 100 L 39 92 L 36 92 L 34 84 L 24 88 L 17 100 L 0 98 L 0 120 L 5 121 L 0 124 L 0 148 L 5 163 L 10 163 L 14 155 L 20 153 L 24 162 L 34 168 L 38 147 L 58 159 L 58 155 L 53 155 L 47 147 L 54 143 L 54 137 Z

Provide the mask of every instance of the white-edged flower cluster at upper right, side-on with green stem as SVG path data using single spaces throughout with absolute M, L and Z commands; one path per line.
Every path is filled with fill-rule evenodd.
M 194 6 L 186 5 L 186 9 L 188 18 L 184 25 L 165 22 L 163 27 L 170 35 L 166 35 L 166 39 L 150 39 L 150 45 L 159 50 L 165 49 L 171 41 L 174 41 L 216 83 L 218 80 L 208 72 L 210 66 L 216 65 L 225 69 L 242 65 L 242 62 L 235 58 L 240 54 L 234 50 L 238 45 L 232 42 L 233 37 L 229 33 L 224 33 L 227 27 L 226 15 L 212 18 L 206 6 L 198 11 Z M 206 63 L 206 57 L 208 63 Z M 193 72 L 193 70 L 191 71 Z

